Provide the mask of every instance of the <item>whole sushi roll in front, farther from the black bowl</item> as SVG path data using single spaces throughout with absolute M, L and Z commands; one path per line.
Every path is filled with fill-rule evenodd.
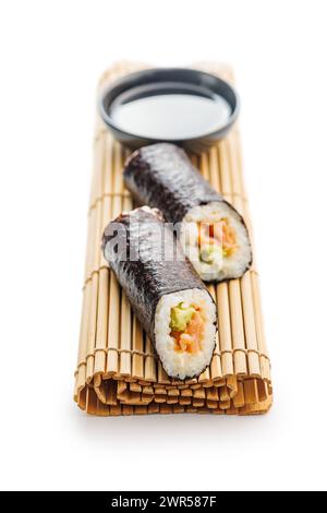
M 109 223 L 102 251 L 167 374 L 184 380 L 210 363 L 216 305 L 157 210 Z

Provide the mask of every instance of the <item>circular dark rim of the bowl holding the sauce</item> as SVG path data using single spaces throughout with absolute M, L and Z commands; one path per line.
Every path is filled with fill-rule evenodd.
M 227 98 L 221 95 L 223 97 L 223 99 L 226 99 L 226 102 L 228 102 L 228 104 L 230 105 L 230 107 L 232 109 L 230 116 L 227 119 L 227 121 L 222 126 L 220 126 L 218 129 L 211 130 L 209 132 L 204 132 L 199 135 L 196 135 L 195 138 L 166 138 L 166 139 L 158 139 L 157 138 L 156 139 L 156 138 L 150 138 L 150 136 L 147 136 L 147 135 L 142 135 L 142 134 L 137 134 L 137 133 L 133 133 L 133 132 L 129 132 L 126 130 L 123 130 L 118 123 L 114 122 L 114 120 L 108 114 L 108 110 L 107 110 L 108 107 L 110 107 L 110 105 L 117 99 L 117 97 L 122 92 L 119 92 L 113 98 L 111 98 L 109 105 L 106 108 L 105 104 L 106 104 L 106 99 L 107 99 L 108 95 L 110 93 L 112 93 L 113 90 L 123 86 L 126 82 L 132 82 L 132 84 L 130 84 L 130 86 L 128 86 L 125 88 L 125 91 L 129 91 L 134 85 L 136 85 L 137 80 L 140 80 L 141 77 L 144 77 L 147 74 L 148 75 L 155 75 L 156 73 L 162 73 L 162 72 L 172 73 L 172 74 L 173 73 L 187 73 L 187 74 L 191 73 L 193 75 L 208 76 L 210 80 L 214 79 L 221 87 L 223 87 L 226 90 L 229 90 L 229 92 L 234 97 L 234 108 L 232 108 L 230 102 L 228 102 Z M 133 82 L 134 82 L 134 84 L 133 84 Z M 180 83 L 184 82 L 185 84 L 187 84 L 187 83 L 192 84 L 192 82 L 189 82 L 186 80 L 185 81 L 179 81 L 179 82 Z M 213 92 L 213 90 L 210 90 L 209 86 L 206 85 L 206 87 L 209 91 Z M 217 94 L 217 93 L 215 93 L 215 94 Z M 107 124 L 107 127 L 109 127 L 114 132 L 118 132 L 119 134 L 121 134 L 123 136 L 123 139 L 128 138 L 129 140 L 147 141 L 149 143 L 157 143 L 157 142 L 184 143 L 184 142 L 192 142 L 192 141 L 201 141 L 201 140 L 204 140 L 204 139 L 213 139 L 213 140 L 214 139 L 219 139 L 219 134 L 225 134 L 232 127 L 232 124 L 234 123 L 234 121 L 237 120 L 237 118 L 239 116 L 239 112 L 240 112 L 240 96 L 239 96 L 238 92 L 235 91 L 235 88 L 230 83 L 228 83 L 223 79 L 220 79 L 219 76 L 217 76 L 213 73 L 208 73 L 206 71 L 202 71 L 202 70 L 197 70 L 197 69 L 193 69 L 193 68 L 174 68 L 174 67 L 146 68 L 146 69 L 143 69 L 143 70 L 138 70 L 138 71 L 128 73 L 128 74 L 114 80 L 111 84 L 109 84 L 107 87 L 101 90 L 100 94 L 99 94 L 99 98 L 98 98 L 98 111 L 99 111 L 99 115 L 100 115 L 102 121 L 105 122 L 105 124 Z

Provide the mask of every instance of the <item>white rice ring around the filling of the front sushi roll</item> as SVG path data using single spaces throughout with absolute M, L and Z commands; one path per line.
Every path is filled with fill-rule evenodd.
M 171 308 L 180 302 L 198 306 L 205 321 L 202 349 L 196 354 L 175 350 L 175 341 L 170 336 Z M 162 296 L 155 315 L 156 349 L 164 369 L 170 377 L 184 380 L 198 375 L 211 360 L 216 344 L 216 306 L 206 290 L 191 288 Z

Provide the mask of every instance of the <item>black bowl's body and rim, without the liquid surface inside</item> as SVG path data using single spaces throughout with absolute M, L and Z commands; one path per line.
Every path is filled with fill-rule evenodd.
M 213 102 L 217 102 L 217 98 L 221 102 L 222 98 L 227 102 L 230 112 L 219 127 L 217 124 L 217 129 L 203 131 L 196 136 L 170 138 L 166 135 L 162 139 L 145 136 L 124 130 L 114 120 L 114 111 L 122 105 L 149 96 L 177 93 L 207 98 Z M 114 138 L 130 148 L 165 141 L 201 152 L 227 134 L 239 115 L 239 96 L 227 82 L 203 71 L 183 68 L 159 68 L 131 73 L 111 84 L 101 94 L 99 100 L 102 120 Z

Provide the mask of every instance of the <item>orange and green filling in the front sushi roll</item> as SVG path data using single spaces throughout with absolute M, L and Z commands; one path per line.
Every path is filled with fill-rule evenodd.
M 198 307 L 180 303 L 172 308 L 170 327 L 174 350 L 195 354 L 202 349 L 204 320 Z

